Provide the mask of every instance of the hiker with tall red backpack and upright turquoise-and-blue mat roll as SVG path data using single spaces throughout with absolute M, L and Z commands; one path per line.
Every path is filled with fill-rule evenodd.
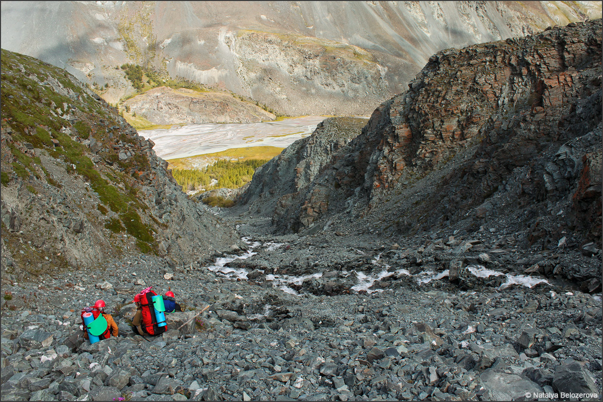
M 142 337 L 147 335 L 159 335 L 165 332 L 167 324 L 165 322 L 165 307 L 163 298 L 157 297 L 157 294 L 147 287 L 144 291 L 134 296 L 136 304 L 136 314 L 132 319 L 132 331 Z

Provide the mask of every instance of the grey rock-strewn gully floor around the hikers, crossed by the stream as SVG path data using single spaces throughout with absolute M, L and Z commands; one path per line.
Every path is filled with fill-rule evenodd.
M 2 400 L 601 397 L 600 294 L 505 287 L 513 272 L 488 244 L 479 260 L 456 248 L 463 243 L 446 251 L 367 234 L 276 236 L 268 219 L 225 218 L 245 236 L 238 254 L 247 258 L 171 267 L 139 256 L 104 272 L 3 283 Z M 440 262 L 457 252 L 475 268 L 450 281 Z M 502 275 L 473 274 L 486 270 Z M 198 325 L 134 336 L 130 303 L 150 285 L 187 310 L 172 320 L 210 309 Z M 79 312 L 97 298 L 120 333 L 90 345 Z

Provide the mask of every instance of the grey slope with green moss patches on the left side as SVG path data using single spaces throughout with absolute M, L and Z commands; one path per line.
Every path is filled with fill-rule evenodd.
M 152 148 L 68 72 L 2 49 L 2 278 L 238 243 Z

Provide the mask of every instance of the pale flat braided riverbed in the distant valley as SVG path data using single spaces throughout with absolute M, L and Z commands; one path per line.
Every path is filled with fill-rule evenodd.
M 189 124 L 138 133 L 155 143 L 153 149 L 157 156 L 175 159 L 247 146 L 286 148 L 312 134 L 324 119 L 324 116 L 305 116 L 259 123 Z

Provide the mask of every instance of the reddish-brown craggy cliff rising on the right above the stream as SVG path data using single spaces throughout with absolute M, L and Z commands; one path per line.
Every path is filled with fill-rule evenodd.
M 596 253 L 601 20 L 435 54 L 308 186 L 280 197 L 273 222 L 297 232 L 327 219 L 402 235 L 498 227 L 519 247 Z M 598 269 L 569 271 L 600 284 Z

